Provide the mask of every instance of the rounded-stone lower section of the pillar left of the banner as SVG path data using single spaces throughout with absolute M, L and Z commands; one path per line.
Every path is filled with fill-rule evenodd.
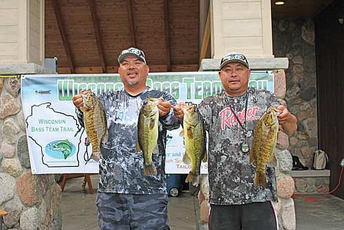
M 5 229 L 60 230 L 61 187 L 53 174 L 32 175 L 21 109 L 20 77 L 0 76 L 0 209 Z

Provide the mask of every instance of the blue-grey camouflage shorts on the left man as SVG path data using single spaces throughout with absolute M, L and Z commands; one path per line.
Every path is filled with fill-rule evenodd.
M 167 195 L 107 194 L 96 198 L 100 230 L 169 230 Z

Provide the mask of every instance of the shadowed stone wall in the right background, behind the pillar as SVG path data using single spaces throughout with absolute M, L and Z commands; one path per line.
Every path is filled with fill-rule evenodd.
M 298 118 L 297 134 L 290 137 L 288 150 L 310 167 L 318 147 L 314 19 L 275 19 L 272 36 L 275 57 L 289 60 L 285 100 Z

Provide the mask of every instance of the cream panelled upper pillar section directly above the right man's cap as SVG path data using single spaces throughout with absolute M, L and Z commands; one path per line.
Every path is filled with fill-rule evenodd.
M 273 57 L 270 0 L 212 0 L 211 57 Z

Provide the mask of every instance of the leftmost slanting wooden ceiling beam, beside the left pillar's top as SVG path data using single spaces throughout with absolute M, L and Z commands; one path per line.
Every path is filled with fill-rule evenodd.
M 62 14 L 61 14 L 61 6 L 59 0 L 52 0 L 52 5 L 54 6 L 55 17 L 58 25 L 58 30 L 60 31 L 62 43 L 65 48 L 65 54 L 67 56 L 67 62 L 69 64 L 69 68 L 71 69 L 72 73 L 74 73 L 74 63 L 73 63 L 73 56 L 70 50 L 68 37 L 65 32 L 65 24 L 63 23 Z

